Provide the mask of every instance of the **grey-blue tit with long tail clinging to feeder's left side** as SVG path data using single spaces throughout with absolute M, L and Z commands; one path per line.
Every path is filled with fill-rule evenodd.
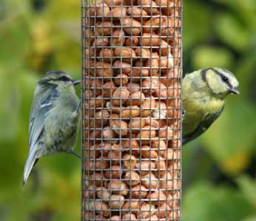
M 29 153 L 23 183 L 41 156 L 58 152 L 73 153 L 81 100 L 75 94 L 73 80 L 64 71 L 48 71 L 39 80 L 30 111 Z

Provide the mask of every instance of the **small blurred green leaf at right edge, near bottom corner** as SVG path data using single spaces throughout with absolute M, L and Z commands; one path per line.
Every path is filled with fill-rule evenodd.
M 237 183 L 246 200 L 256 208 L 256 180 L 242 175 L 237 179 Z

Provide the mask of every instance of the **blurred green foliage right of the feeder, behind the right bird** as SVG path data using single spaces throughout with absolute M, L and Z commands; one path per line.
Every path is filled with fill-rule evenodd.
M 240 82 L 220 118 L 183 147 L 183 221 L 254 221 L 256 1 L 183 3 L 184 73 L 220 66 Z M 238 186 L 216 185 L 227 180 Z

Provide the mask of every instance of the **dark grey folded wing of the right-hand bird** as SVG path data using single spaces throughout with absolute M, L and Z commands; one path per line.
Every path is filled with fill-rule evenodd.
M 183 136 L 182 137 L 182 144 L 189 143 L 190 141 L 194 140 L 198 136 L 201 136 L 203 132 L 205 132 L 213 122 L 215 122 L 215 119 L 218 119 L 218 116 L 220 116 L 220 113 L 223 111 L 224 106 L 220 108 L 220 110 L 216 113 L 213 114 L 207 114 L 204 118 L 203 121 L 198 124 L 197 129 L 193 132 L 190 133 L 189 135 Z

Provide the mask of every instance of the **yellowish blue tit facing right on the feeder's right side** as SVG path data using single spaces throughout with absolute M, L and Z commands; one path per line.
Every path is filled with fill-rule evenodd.
M 239 94 L 238 80 L 226 69 L 209 68 L 183 78 L 182 144 L 201 136 L 222 113 L 228 94 Z

